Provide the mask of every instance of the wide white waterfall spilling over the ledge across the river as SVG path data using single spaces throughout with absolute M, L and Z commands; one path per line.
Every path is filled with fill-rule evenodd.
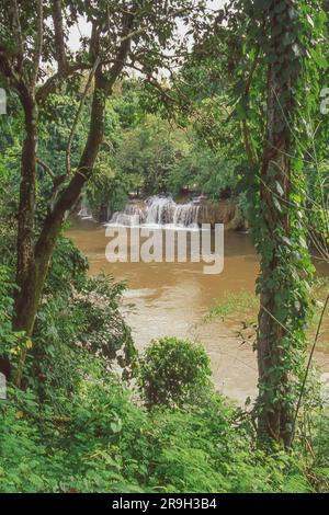
M 152 196 L 145 202 L 129 202 L 122 211 L 114 213 L 111 226 L 160 226 L 164 228 L 196 228 L 200 205 L 197 201 L 177 204 L 171 196 Z

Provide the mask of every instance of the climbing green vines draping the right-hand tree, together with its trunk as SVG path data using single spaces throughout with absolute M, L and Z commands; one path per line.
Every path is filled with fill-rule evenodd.
M 308 1 L 234 3 L 241 19 L 245 15 L 247 34 L 237 112 L 247 154 L 249 221 L 261 259 L 259 436 L 288 445 L 304 371 L 314 273 L 307 242 L 305 121 L 319 93 L 318 68 L 325 64 L 317 38 L 326 15 Z

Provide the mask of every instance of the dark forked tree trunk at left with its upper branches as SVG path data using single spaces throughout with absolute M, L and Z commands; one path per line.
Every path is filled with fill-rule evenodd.
M 99 153 L 103 138 L 105 99 L 111 94 L 113 85 L 121 75 L 126 58 L 131 50 L 131 42 L 138 2 L 127 9 L 121 20 L 122 37 L 117 34 L 117 48 L 111 52 L 111 69 L 107 65 L 101 64 L 101 57 L 105 59 L 110 52 L 104 34 L 103 22 L 93 16 L 92 31 L 89 39 L 89 62 L 81 64 L 79 60 L 69 65 L 71 58 L 67 52 L 64 18 L 65 5 L 60 0 L 52 2 L 52 10 L 44 14 L 43 3 L 37 2 L 37 13 L 35 18 L 36 31 L 33 35 L 22 32 L 21 16 L 25 12 L 19 9 L 15 2 L 9 2 L 13 8 L 8 15 L 3 14 L 1 21 L 8 22 L 8 34 L 13 37 L 1 41 L 0 72 L 7 80 L 10 88 L 16 90 L 25 116 L 25 139 L 22 149 L 20 206 L 18 220 L 18 260 L 16 260 L 16 285 L 18 291 L 14 295 L 13 329 L 22 335 L 21 356 L 19 369 L 16 370 L 16 385 L 20 385 L 23 366 L 26 356 L 26 340 L 32 336 L 37 308 L 41 301 L 42 291 L 46 281 L 49 261 L 53 254 L 56 240 L 60 233 L 63 220 L 67 211 L 76 204 L 84 183 L 92 174 L 93 165 Z M 24 2 L 21 2 L 22 4 Z M 27 3 L 27 2 L 25 2 Z M 106 10 L 104 11 L 106 13 Z M 54 39 L 52 34 L 44 37 L 46 18 L 53 15 Z M 109 14 L 109 12 L 107 12 Z M 27 15 L 27 18 L 29 18 Z M 33 18 L 33 16 L 31 16 Z M 111 39 L 111 34 L 107 34 Z M 50 39 L 49 39 L 50 38 Z M 7 41 L 8 39 L 8 41 Z M 113 42 L 112 42 L 113 43 Z M 46 52 L 45 52 L 46 48 Z M 112 46 L 111 46 L 112 48 Z M 113 49 L 113 48 L 112 48 Z M 42 85 L 37 87 L 38 79 L 44 78 L 42 61 L 44 56 L 53 55 L 58 65 L 58 71 L 48 78 Z M 26 54 L 26 55 L 25 55 Z M 106 60 L 106 59 L 105 59 Z M 106 71 L 104 71 L 106 66 Z M 80 159 L 78 170 L 71 175 L 69 167 L 64 179 L 68 184 L 64 186 L 52 211 L 46 216 L 41 233 L 35 237 L 35 176 L 37 161 L 37 127 L 38 111 L 42 108 L 48 95 L 55 93 L 60 81 L 65 82 L 72 77 L 76 71 L 90 70 L 88 85 L 94 79 L 93 100 L 90 115 L 89 135 Z M 83 104 L 86 96 L 81 99 Z M 77 119 L 80 111 L 77 113 Z M 72 127 L 72 133 L 75 126 Z M 70 141 L 69 141 L 70 142 Z M 69 144 L 68 144 L 69 145 Z M 69 146 L 68 146 L 69 148 Z M 47 167 L 46 167 L 47 168 Z M 48 170 L 49 171 L 49 170 Z M 58 178 L 54 178 L 55 182 Z M 25 339 L 25 342 L 24 342 Z

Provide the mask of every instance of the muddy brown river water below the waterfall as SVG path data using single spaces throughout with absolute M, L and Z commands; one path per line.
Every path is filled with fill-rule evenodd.
M 91 275 L 112 274 L 127 283 L 123 312 L 138 350 L 164 335 L 196 340 L 211 357 L 220 392 L 241 405 L 247 397 L 256 397 L 257 363 L 251 343 L 242 344 L 236 334 L 237 323 L 220 318 L 204 322 L 215 299 L 242 290 L 253 295 L 259 263 L 248 234 L 225 232 L 224 271 L 218 275 L 205 275 L 200 263 L 191 262 L 109 263 L 105 228 L 92 220 L 73 219 L 68 236 L 88 256 Z M 322 371 L 329 369 L 329 355 L 317 353 L 317 364 Z

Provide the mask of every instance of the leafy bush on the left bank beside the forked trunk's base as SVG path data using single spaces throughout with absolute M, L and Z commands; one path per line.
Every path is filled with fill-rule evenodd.
M 120 365 L 131 376 L 137 352 L 120 312 L 123 291 L 113 277 L 86 277 L 69 296 L 57 291 L 41 306 L 26 360 L 26 382 L 41 400 L 55 402 L 58 391 L 72 396 L 89 375 L 88 356 L 102 357 L 107 369 Z

